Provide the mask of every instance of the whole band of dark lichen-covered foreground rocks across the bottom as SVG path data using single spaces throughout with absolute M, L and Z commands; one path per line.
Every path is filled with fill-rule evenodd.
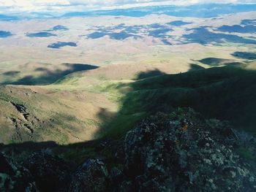
M 54 153 L 32 153 L 12 164 L 0 155 L 0 189 L 256 191 L 255 143 L 226 122 L 178 109 L 152 115 L 123 139 L 90 146 L 94 158 L 75 169 Z

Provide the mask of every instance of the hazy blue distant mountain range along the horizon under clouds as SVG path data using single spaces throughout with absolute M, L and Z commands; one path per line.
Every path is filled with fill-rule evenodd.
M 234 14 L 238 12 L 252 12 L 255 10 L 256 4 L 193 4 L 189 6 L 168 5 L 134 7 L 129 9 L 89 10 L 84 12 L 59 13 L 59 15 L 56 15 L 56 12 L 26 12 L 22 14 L 0 15 L 0 20 L 70 18 L 97 15 L 143 17 L 151 14 L 165 14 L 176 17 L 214 18 L 219 15 Z

